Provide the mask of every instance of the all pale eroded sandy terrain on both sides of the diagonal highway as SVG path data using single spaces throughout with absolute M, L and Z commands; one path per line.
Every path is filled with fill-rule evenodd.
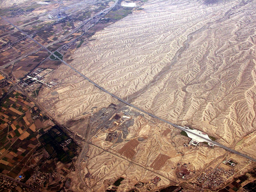
M 235 148 L 248 135 L 235 149 L 255 158 L 256 1 L 149 0 L 143 8 L 97 32 L 95 40 L 72 55 L 71 65 L 118 97 L 204 131 L 226 146 Z M 41 90 L 39 101 L 63 122 L 117 102 L 68 67 L 58 68 L 49 81 L 53 79 L 58 86 Z M 127 182 L 150 181 L 155 171 L 161 174 L 158 186 L 165 186 L 171 182 L 167 178 L 178 182 L 177 163 L 193 162 L 189 169 L 197 174 L 226 152 L 184 147 L 188 138 L 178 130 L 149 117 L 138 120 L 127 138 L 148 139 L 127 150 L 125 142 L 113 146 L 104 141 L 103 133 L 95 139 L 115 155 L 90 146 L 84 163 L 93 174 L 94 180 L 86 181 L 89 186 L 99 189 L 120 176 Z M 124 153 L 140 166 L 121 159 L 127 158 Z M 161 167 L 155 166 L 161 155 L 167 157 Z

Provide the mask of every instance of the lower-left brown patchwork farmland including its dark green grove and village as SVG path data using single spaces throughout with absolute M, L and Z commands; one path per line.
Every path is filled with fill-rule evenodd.
M 18 91 L 5 95 L 0 106 L 0 173 L 38 191 L 60 190 L 78 145 Z

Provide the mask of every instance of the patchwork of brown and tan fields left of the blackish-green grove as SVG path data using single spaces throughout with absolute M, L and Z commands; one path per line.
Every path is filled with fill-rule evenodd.
M 33 102 L 19 92 L 13 91 L 1 102 L 0 114 L 0 170 L 4 174 L 16 177 L 22 169 L 19 163 L 38 144 L 32 120 L 32 116 L 36 116 L 38 112 Z

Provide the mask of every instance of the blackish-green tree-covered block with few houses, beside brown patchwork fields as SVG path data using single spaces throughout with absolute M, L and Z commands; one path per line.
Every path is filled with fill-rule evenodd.
M 52 158 L 57 157 L 62 163 L 69 163 L 76 156 L 78 146 L 57 125 L 45 132 L 38 140 Z

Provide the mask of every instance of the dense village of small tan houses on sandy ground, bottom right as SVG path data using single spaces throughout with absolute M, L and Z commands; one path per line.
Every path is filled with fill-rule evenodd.
M 201 173 L 201 175 L 197 177 L 193 186 L 199 190 L 202 189 L 203 186 L 205 189 L 215 190 L 220 187 L 227 178 L 233 176 L 234 173 L 235 169 L 231 168 L 227 170 L 221 166 L 216 167 L 214 171 L 207 169 L 206 173 Z

